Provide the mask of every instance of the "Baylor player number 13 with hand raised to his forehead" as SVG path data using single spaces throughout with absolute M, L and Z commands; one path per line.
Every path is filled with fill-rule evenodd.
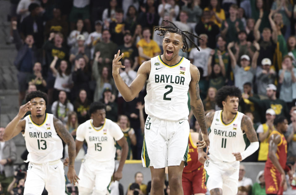
M 65 194 L 65 171 L 60 160 L 63 155 L 61 139 L 68 144 L 68 178 L 71 183 L 78 179 L 74 169 L 74 139 L 59 119 L 54 118 L 53 114 L 45 113 L 46 93 L 33 91 L 27 94 L 26 101 L 3 134 L 3 139 L 9 140 L 24 130 L 22 133 L 29 152 L 25 161 L 29 165 L 24 195 L 40 195 L 44 186 L 49 195 Z M 31 111 L 31 114 L 23 118 L 27 111 Z

